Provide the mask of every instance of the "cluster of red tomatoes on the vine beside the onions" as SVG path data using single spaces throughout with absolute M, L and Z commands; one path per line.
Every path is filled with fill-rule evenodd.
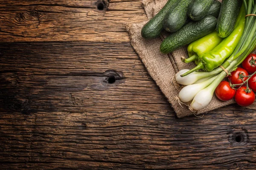
M 252 105 L 256 92 L 256 54 L 249 54 L 242 62 L 243 68 L 231 72 L 228 79 L 222 81 L 215 90 L 218 99 L 227 101 L 235 97 L 236 103 L 242 107 Z M 249 73 L 252 75 L 249 76 Z

